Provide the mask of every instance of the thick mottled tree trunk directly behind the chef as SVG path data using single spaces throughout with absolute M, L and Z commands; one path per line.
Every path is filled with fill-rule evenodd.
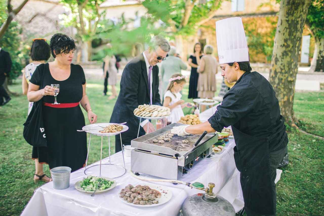
M 311 0 L 281 0 L 278 26 L 273 45 L 269 82 L 278 98 L 281 114 L 295 125 L 293 110 L 298 54 Z

